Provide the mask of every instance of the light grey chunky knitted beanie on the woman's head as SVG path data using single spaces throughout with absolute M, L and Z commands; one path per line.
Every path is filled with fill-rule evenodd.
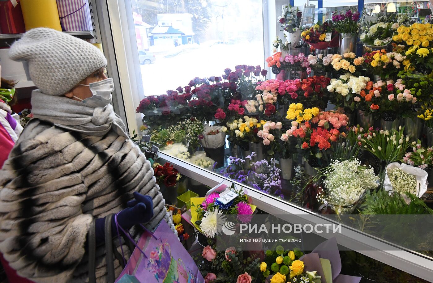
M 33 83 L 42 93 L 53 96 L 67 93 L 107 65 L 94 45 L 48 28 L 26 32 L 10 47 L 9 56 L 14 61 L 27 61 Z

